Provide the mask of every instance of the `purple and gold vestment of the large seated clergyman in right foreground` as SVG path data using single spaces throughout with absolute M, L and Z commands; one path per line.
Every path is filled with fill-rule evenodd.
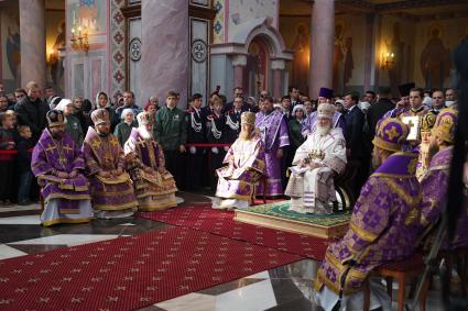
M 317 291 L 325 285 L 339 293 L 350 259 L 356 265 L 346 278 L 345 295 L 358 291 L 374 267 L 414 252 L 422 197 L 414 176 L 416 162 L 415 153 L 395 153 L 369 177 L 353 208 L 348 232 L 327 248 L 317 274 Z

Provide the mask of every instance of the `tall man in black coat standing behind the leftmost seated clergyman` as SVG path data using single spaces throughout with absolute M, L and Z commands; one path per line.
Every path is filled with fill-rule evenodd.
M 28 96 L 17 103 L 14 111 L 18 114 L 19 125 L 30 126 L 32 138 L 36 143 L 47 125 L 45 114 L 48 111 L 48 104 L 41 100 L 41 92 L 36 82 L 28 82 L 26 93 Z

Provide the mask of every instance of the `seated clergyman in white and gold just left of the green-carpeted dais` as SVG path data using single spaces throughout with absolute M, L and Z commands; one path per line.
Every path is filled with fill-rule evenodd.
M 230 146 L 224 163 L 217 169 L 218 187 L 215 209 L 247 209 L 255 193 L 255 184 L 264 173 L 265 154 L 262 137 L 254 129 L 255 114 L 243 112 L 239 138 Z

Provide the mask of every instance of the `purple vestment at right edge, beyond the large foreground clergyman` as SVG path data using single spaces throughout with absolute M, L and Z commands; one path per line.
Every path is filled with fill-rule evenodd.
M 421 181 L 423 187 L 423 201 L 421 203 L 421 224 L 422 230 L 431 230 L 440 216 L 442 208 L 446 203 L 448 177 L 450 162 L 454 148 L 447 147 L 436 153 L 431 160 L 427 174 Z M 468 198 L 464 196 L 464 206 L 457 223 L 457 234 L 453 242 L 453 247 L 468 245 Z M 444 241 L 442 248 L 447 249 L 448 242 Z

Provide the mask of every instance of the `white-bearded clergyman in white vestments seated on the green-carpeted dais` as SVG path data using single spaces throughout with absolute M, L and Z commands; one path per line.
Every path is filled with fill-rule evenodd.
M 346 141 L 342 130 L 331 124 L 335 105 L 320 103 L 317 112 L 315 132 L 294 155 L 285 195 L 291 197 L 292 211 L 330 214 L 336 201 L 334 176 L 346 168 Z

